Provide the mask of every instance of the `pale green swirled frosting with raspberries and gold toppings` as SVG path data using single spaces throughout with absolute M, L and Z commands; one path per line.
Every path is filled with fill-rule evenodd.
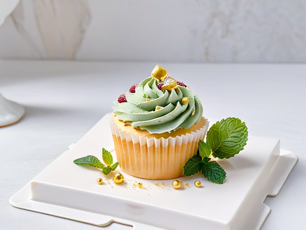
M 117 119 L 150 133 L 190 128 L 203 114 L 199 98 L 184 83 L 169 77 L 159 65 L 151 77 L 133 85 L 114 104 Z

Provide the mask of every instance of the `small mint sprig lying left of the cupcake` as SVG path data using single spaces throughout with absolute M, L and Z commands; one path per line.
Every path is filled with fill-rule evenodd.
M 97 157 L 92 156 L 92 155 L 88 155 L 85 157 L 75 159 L 73 163 L 79 164 L 79 165 L 88 165 L 88 166 L 102 169 L 102 172 L 105 175 L 109 174 L 111 171 L 114 171 L 119 165 L 118 162 L 113 164 L 113 156 L 105 148 L 102 149 L 102 158 L 106 165 L 101 163 Z

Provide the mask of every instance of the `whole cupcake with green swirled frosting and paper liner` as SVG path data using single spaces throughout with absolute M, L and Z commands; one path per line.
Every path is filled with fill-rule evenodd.
M 190 88 L 156 65 L 114 104 L 110 127 L 120 168 L 145 179 L 183 176 L 209 125 Z

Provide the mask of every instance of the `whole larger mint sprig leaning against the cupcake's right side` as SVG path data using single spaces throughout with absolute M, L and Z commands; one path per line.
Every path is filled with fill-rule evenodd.
M 235 117 L 228 117 L 216 122 L 207 132 L 207 143 L 199 140 L 197 154 L 185 163 L 185 176 L 192 176 L 202 171 L 209 181 L 223 184 L 226 172 L 216 161 L 211 161 L 211 154 L 215 158 L 230 158 L 238 154 L 248 140 L 248 127 Z

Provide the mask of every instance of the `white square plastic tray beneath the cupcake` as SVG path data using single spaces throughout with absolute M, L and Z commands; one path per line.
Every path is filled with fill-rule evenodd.
M 223 185 L 207 181 L 200 173 L 180 178 L 191 185 L 180 190 L 172 188 L 173 180 L 136 178 L 119 167 L 104 176 L 101 170 L 73 160 L 86 155 L 102 160 L 102 147 L 114 151 L 109 116 L 13 195 L 10 204 L 100 226 L 113 221 L 129 224 L 135 230 L 257 230 L 270 212 L 263 201 L 278 194 L 297 161 L 293 153 L 280 149 L 279 140 L 249 136 L 241 153 L 217 159 L 227 173 Z M 116 172 L 124 175 L 123 185 L 112 181 Z M 97 178 L 103 178 L 103 185 L 96 183 Z M 196 180 L 202 187 L 194 186 Z M 133 186 L 138 182 L 145 188 Z M 173 225 L 177 222 L 179 226 Z

